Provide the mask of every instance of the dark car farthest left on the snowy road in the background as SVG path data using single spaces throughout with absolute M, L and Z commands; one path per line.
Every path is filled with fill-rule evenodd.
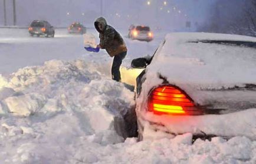
M 35 20 L 31 23 L 28 28 L 28 32 L 31 36 L 45 36 L 54 38 L 55 30 L 54 27 L 47 21 Z

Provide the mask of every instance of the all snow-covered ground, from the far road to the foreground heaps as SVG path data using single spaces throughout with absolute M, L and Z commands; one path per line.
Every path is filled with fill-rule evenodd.
M 130 61 L 152 54 L 164 33 L 150 43 L 125 38 L 125 82 L 139 73 L 127 69 Z M 56 38 L 0 29 L 0 163 L 256 162 L 256 142 L 242 136 L 193 145 L 189 133 L 124 139 L 123 116 L 133 109 L 134 93 L 110 79 L 111 60 L 104 51 L 84 51 L 83 37 L 65 29 L 57 29 Z

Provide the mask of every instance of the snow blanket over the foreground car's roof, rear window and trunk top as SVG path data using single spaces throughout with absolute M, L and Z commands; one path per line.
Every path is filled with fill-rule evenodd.
M 256 83 L 255 48 L 198 41 L 255 42 L 256 45 L 256 38 L 249 36 L 168 34 L 147 69 L 149 72 L 160 73 L 172 84 L 198 85 L 200 88 Z

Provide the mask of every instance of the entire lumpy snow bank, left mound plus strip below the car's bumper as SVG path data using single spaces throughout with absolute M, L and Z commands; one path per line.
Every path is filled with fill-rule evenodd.
M 0 90 L 1 163 L 255 163 L 256 142 L 124 140 L 133 93 L 84 61 L 20 69 Z M 95 65 L 94 65 L 95 66 Z

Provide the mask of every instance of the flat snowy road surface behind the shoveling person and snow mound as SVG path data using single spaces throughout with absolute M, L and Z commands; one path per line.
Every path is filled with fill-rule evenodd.
M 165 34 L 157 34 L 155 41 L 147 43 L 130 41 L 125 37 L 127 30 L 120 31 L 129 48 L 124 61 L 126 65 L 136 56 L 152 54 Z M 98 36 L 94 29 L 88 29 L 88 33 Z M 7 75 L 25 66 L 42 65 L 51 59 L 70 61 L 82 57 L 88 57 L 83 48 L 83 36 L 67 34 L 67 29 L 56 29 L 55 38 L 32 38 L 27 29 L 0 29 L 0 74 Z M 111 62 L 104 51 L 94 54 L 94 58 Z

